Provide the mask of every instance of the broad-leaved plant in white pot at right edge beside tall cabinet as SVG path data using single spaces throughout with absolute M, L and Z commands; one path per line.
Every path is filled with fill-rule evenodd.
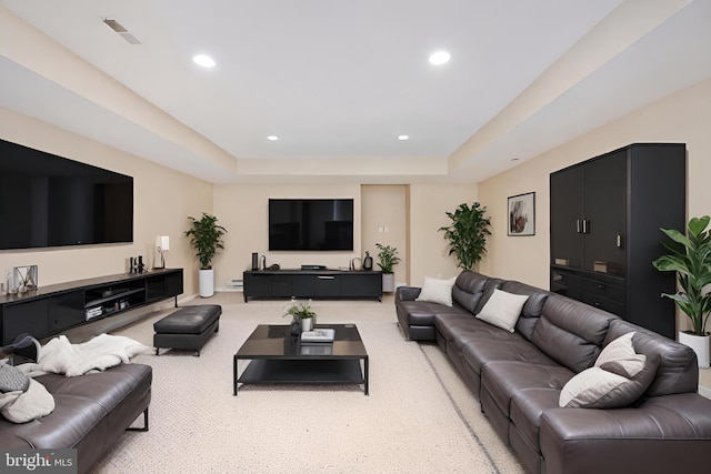
M 709 367 L 709 333 L 707 321 L 711 312 L 711 294 L 705 286 L 711 284 L 711 231 L 707 228 L 711 218 L 692 218 L 687 225 L 687 235 L 674 229 L 662 229 L 675 245 L 664 244 L 669 254 L 652 264 L 663 272 L 677 272 L 677 293 L 662 293 L 674 300 L 679 309 L 691 320 L 691 331 L 679 331 L 679 342 L 697 353 L 700 367 Z

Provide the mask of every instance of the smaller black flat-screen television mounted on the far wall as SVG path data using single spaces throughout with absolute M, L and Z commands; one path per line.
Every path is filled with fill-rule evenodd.
M 269 250 L 353 250 L 353 200 L 270 199 Z

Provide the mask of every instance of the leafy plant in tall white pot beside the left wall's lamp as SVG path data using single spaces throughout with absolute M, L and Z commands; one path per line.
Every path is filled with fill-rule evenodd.
M 210 297 L 214 294 L 212 259 L 219 249 L 224 249 L 222 235 L 227 230 L 218 225 L 218 218 L 204 212 L 201 219 L 188 219 L 190 229 L 186 231 L 186 235 L 190 238 L 190 244 L 196 249 L 196 255 L 200 261 L 200 296 Z

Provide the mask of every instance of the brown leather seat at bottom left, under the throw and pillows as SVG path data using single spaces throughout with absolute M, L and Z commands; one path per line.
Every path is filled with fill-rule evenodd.
M 28 423 L 0 416 L 0 447 L 77 448 L 78 472 L 84 473 L 143 414 L 148 430 L 152 370 L 122 364 L 77 377 L 47 374 L 34 379 L 54 397 L 54 411 Z M 140 422 L 139 422 L 140 423 Z

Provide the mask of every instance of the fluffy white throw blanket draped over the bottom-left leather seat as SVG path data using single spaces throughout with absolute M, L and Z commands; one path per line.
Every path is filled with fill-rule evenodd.
M 32 375 L 51 372 L 72 377 L 128 364 L 131 357 L 151 352 L 152 347 L 122 335 L 100 334 L 81 344 L 72 344 L 67 336 L 60 335 L 42 346 L 37 364 L 24 365 L 32 365 L 27 367 Z

